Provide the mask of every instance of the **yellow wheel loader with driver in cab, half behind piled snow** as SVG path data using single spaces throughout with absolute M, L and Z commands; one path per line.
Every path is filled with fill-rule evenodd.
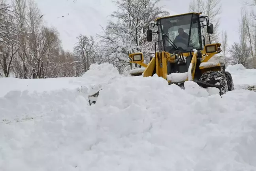
M 168 81 L 184 87 L 185 81 L 194 81 L 203 88 L 216 87 L 220 95 L 233 90 L 233 80 L 225 66 L 218 60 L 211 60 L 221 52 L 220 43 L 211 44 L 210 34 L 213 34 L 213 24 L 207 16 L 201 13 L 186 13 L 169 17 L 157 18 L 156 32 L 147 30 L 147 41 L 152 41 L 152 34 L 158 35 L 155 42 L 155 54 L 149 64 L 145 64 L 143 53 L 129 54 L 130 63 L 136 63 L 142 68 L 130 72 L 132 76 L 150 77 L 157 74 Z M 209 44 L 205 44 L 203 28 L 206 27 Z M 158 45 L 158 51 L 156 49 Z M 89 103 L 95 103 L 98 94 L 89 96 Z

